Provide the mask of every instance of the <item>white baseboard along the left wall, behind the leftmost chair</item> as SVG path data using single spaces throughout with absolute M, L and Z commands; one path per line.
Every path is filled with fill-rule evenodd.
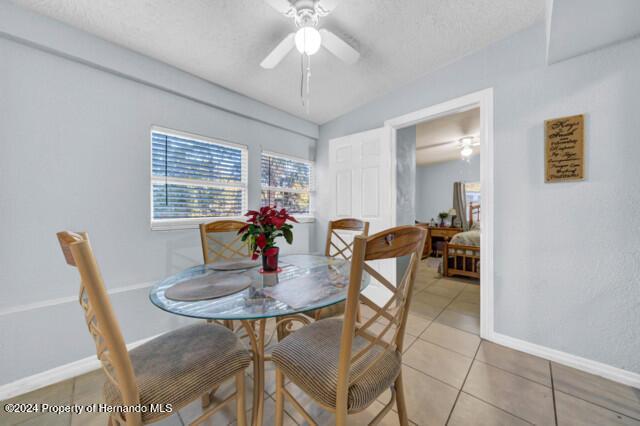
M 127 349 L 131 350 L 161 334 L 129 343 Z M 0 401 L 71 379 L 97 370 L 98 368 L 100 368 L 100 361 L 98 361 L 95 355 L 92 355 L 78 361 L 70 362 L 69 364 L 61 365 L 60 367 L 52 368 L 51 370 L 43 371 L 42 373 L 34 374 L 33 376 L 16 380 L 15 382 L 7 383 L 0 386 Z

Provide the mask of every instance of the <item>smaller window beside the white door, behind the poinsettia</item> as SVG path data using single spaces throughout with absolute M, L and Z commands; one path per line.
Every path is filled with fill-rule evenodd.
M 311 215 L 311 161 L 263 152 L 261 183 L 263 206 L 276 205 L 291 214 Z

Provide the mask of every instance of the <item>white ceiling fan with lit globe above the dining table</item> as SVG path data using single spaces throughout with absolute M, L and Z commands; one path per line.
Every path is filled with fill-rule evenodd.
M 297 30 L 287 35 L 260 63 L 265 69 L 275 68 L 295 47 L 304 56 L 312 56 L 324 47 L 348 64 L 354 64 L 360 53 L 331 31 L 318 29 L 320 17 L 327 16 L 339 0 L 266 0 L 275 10 L 292 18 Z

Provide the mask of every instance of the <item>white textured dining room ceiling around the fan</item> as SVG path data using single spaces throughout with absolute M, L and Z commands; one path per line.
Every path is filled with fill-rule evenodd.
M 320 26 L 360 50 L 312 57 L 310 113 L 300 56 L 259 64 L 293 30 L 261 0 L 15 0 L 15 3 L 321 124 L 542 19 L 544 0 L 341 0 Z

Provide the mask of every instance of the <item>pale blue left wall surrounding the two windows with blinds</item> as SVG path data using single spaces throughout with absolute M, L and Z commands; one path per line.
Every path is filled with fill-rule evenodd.
M 7 33 L 16 22 L 35 39 Z M 0 384 L 94 353 L 59 230 L 90 233 L 127 342 L 186 321 L 148 301 L 154 281 L 202 262 L 196 229 L 150 230 L 151 125 L 248 145 L 250 207 L 261 148 L 315 152 L 311 123 L 0 4 Z M 307 252 L 314 236 L 297 225 L 283 249 Z

